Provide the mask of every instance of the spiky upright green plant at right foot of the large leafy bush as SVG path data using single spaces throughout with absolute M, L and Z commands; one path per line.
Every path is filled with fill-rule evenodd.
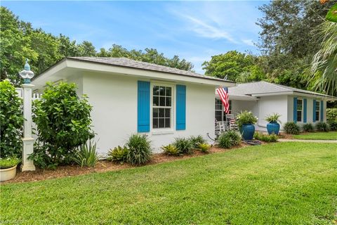
M 87 143 L 79 146 L 74 154 L 74 161 L 81 167 L 95 167 L 98 162 L 96 143 L 88 140 Z

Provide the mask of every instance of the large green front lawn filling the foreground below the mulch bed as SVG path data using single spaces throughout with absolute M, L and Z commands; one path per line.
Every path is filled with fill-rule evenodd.
M 333 224 L 334 143 L 273 143 L 1 185 L 4 224 Z

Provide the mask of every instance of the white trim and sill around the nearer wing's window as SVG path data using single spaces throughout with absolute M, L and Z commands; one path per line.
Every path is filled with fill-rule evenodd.
M 153 87 L 154 86 L 168 86 L 171 87 L 171 114 L 170 114 L 170 127 L 169 128 L 153 128 Z M 163 107 L 163 106 L 161 106 Z M 160 106 L 158 108 L 161 108 Z M 164 106 L 165 108 L 166 106 Z M 150 82 L 150 130 L 152 134 L 172 134 L 175 130 L 176 121 L 176 85 L 166 82 Z

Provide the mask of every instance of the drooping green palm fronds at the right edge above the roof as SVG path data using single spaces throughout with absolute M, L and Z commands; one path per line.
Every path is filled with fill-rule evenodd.
M 316 91 L 337 96 L 337 23 L 319 25 L 321 48 L 312 58 L 310 82 Z

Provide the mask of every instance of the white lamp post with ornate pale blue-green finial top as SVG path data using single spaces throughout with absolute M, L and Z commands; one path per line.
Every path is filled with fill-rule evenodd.
M 28 60 L 26 59 L 25 70 L 20 72 L 20 76 L 24 80 L 22 84 L 23 89 L 23 117 L 25 122 L 23 124 L 23 150 L 22 150 L 22 171 L 35 170 L 32 160 L 28 160 L 28 156 L 33 153 L 34 139 L 32 138 L 32 88 L 34 85 L 30 84 L 30 79 L 34 77 L 34 72 L 30 70 Z

